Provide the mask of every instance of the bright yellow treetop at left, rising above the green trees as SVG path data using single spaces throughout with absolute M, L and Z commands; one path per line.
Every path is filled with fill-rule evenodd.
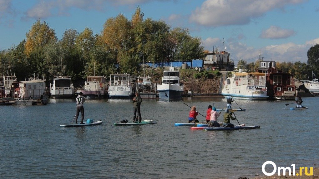
M 29 57 L 33 51 L 43 47 L 50 40 L 57 41 L 55 31 L 45 21 L 41 23 L 37 20 L 26 33 L 25 54 Z

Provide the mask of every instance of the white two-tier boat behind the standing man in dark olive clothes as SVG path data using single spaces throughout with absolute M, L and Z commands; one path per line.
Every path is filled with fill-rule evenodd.
M 131 76 L 126 73 L 116 73 L 110 75 L 110 85 L 108 86 L 108 96 L 111 99 L 130 99 L 132 97 L 133 86 Z

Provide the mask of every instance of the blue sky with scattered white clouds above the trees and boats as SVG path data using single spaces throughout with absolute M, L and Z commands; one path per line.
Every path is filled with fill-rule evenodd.
M 204 50 L 226 46 L 235 65 L 255 62 L 259 51 L 264 61 L 307 63 L 319 44 L 318 0 L 0 0 L 0 50 L 19 45 L 38 19 L 61 40 L 70 28 L 100 34 L 108 18 L 130 20 L 137 6 L 144 20 L 189 29 Z

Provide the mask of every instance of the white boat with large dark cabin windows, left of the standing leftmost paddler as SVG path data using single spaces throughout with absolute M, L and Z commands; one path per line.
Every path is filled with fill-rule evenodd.
M 50 84 L 50 93 L 52 98 L 72 98 L 74 96 L 74 87 L 70 76 L 58 76 L 53 78 L 53 84 Z

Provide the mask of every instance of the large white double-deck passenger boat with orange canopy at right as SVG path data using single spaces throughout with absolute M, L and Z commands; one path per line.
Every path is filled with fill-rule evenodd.
M 240 100 L 267 100 L 265 73 L 232 72 L 223 82 L 222 95 Z

